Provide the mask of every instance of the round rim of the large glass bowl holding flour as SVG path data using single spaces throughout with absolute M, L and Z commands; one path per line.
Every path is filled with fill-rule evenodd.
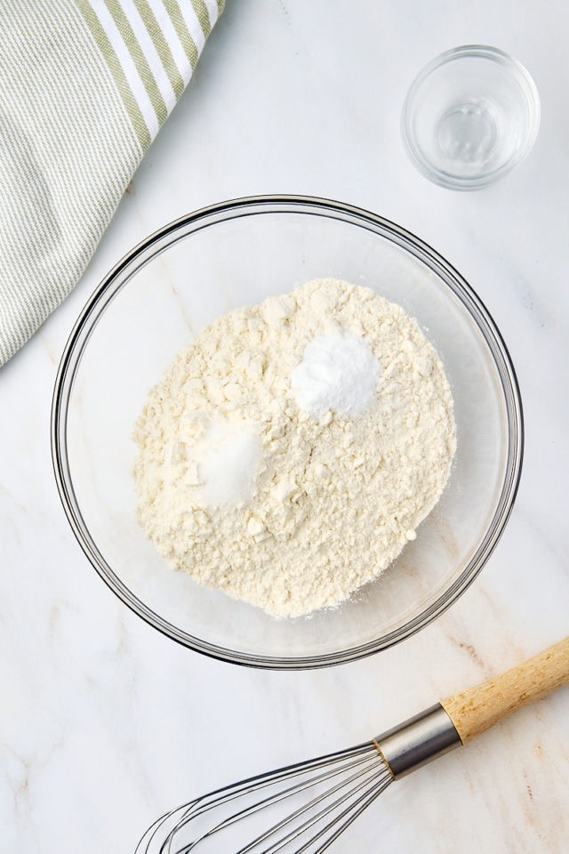
M 164 238 L 175 235 L 177 231 L 184 230 L 183 234 L 180 235 L 180 238 L 183 238 L 218 222 L 263 213 L 313 214 L 358 225 L 366 230 L 372 230 L 382 238 L 389 239 L 392 243 L 413 254 L 413 257 L 425 264 L 429 270 L 436 272 L 445 285 L 453 291 L 453 294 L 461 300 L 492 352 L 493 362 L 501 380 L 501 391 L 508 422 L 508 456 L 500 498 L 493 519 L 479 541 L 476 551 L 462 569 L 460 576 L 428 608 L 424 608 L 420 614 L 397 629 L 373 641 L 319 655 L 268 656 L 226 649 L 190 635 L 156 614 L 116 576 L 98 551 L 77 502 L 68 464 L 67 416 L 76 371 L 98 319 L 114 295 L 129 281 L 130 276 L 124 276 L 129 267 L 136 264 L 138 269 L 140 259 L 148 253 L 150 254 L 146 262 L 151 260 L 156 254 L 163 251 L 159 246 Z M 168 243 L 168 246 L 170 245 L 172 242 Z M 152 250 L 156 251 L 152 252 Z M 146 262 L 143 261 L 142 263 Z M 52 395 L 51 447 L 53 472 L 60 501 L 76 540 L 102 580 L 133 613 L 171 638 L 172 641 L 207 657 L 236 665 L 271 670 L 307 670 L 347 663 L 373 655 L 382 649 L 389 649 L 389 647 L 412 636 L 435 620 L 467 590 L 490 558 L 513 508 L 522 470 L 524 417 L 517 376 L 498 327 L 472 287 L 442 255 L 420 238 L 415 237 L 412 232 L 364 208 L 322 197 L 265 195 L 229 199 L 179 217 L 140 241 L 102 279 L 76 319 L 60 359 Z

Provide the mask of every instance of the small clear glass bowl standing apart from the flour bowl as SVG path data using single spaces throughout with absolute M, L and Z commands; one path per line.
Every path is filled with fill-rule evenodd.
M 413 165 L 449 189 L 479 189 L 527 156 L 540 98 L 520 62 L 486 45 L 441 53 L 415 78 L 401 134 Z

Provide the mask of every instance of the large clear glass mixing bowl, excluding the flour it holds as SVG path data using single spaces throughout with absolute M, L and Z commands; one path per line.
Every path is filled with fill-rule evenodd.
M 391 567 L 339 608 L 277 620 L 166 566 L 137 522 L 132 431 L 150 387 L 204 326 L 321 277 L 373 287 L 417 318 L 453 390 L 458 448 L 441 500 Z M 190 649 L 283 669 L 370 655 L 448 608 L 508 520 L 522 437 L 508 352 L 456 270 L 380 216 L 308 197 L 213 205 L 133 249 L 77 320 L 52 406 L 61 500 L 108 586 Z

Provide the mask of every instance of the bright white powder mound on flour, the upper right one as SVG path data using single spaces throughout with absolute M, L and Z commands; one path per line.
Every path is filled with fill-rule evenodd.
M 379 374 L 379 362 L 362 338 L 334 333 L 307 344 L 291 383 L 297 404 L 310 415 L 358 415 L 371 406 Z

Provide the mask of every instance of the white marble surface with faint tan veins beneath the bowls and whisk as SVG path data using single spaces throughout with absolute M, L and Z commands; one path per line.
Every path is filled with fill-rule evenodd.
M 565 4 L 228 0 L 179 107 L 84 278 L 0 373 L 0 848 L 128 852 L 159 812 L 347 746 L 557 641 L 569 614 Z M 421 66 L 495 44 L 533 73 L 541 132 L 493 188 L 453 194 L 407 162 L 398 117 Z M 395 649 L 309 673 L 181 649 L 102 584 L 52 477 L 52 386 L 88 295 L 131 246 L 224 198 L 368 207 L 435 246 L 493 313 L 525 403 L 522 486 L 476 583 Z M 391 786 L 333 850 L 569 850 L 569 691 Z

